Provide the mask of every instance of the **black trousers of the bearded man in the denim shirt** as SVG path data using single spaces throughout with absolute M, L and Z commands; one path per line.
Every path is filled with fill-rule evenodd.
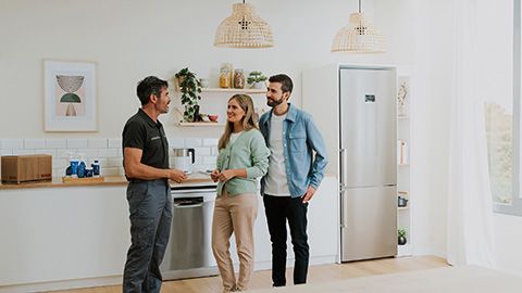
M 286 220 L 290 227 L 291 244 L 296 262 L 294 264 L 294 284 L 307 282 L 310 258 L 307 235 L 308 203 L 301 198 L 273 196 L 264 194 L 264 212 L 272 241 L 272 281 L 274 286 L 286 285 Z

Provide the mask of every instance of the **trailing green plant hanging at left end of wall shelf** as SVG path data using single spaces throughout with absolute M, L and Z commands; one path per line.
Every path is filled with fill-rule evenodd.
M 185 106 L 183 118 L 185 122 L 199 120 L 199 105 L 201 100 L 199 93 L 201 92 L 201 81 L 196 77 L 196 74 L 188 68 L 183 68 L 176 73 L 176 81 L 182 92 L 182 104 Z

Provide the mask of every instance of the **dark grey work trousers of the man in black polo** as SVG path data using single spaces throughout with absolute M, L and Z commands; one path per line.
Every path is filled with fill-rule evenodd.
M 132 181 L 127 187 L 130 247 L 123 292 L 160 292 L 160 264 L 171 232 L 172 200 L 167 180 Z

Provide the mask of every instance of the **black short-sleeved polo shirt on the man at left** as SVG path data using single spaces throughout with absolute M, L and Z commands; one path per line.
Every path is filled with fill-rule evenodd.
M 159 169 L 169 168 L 169 141 L 163 125 L 159 120 L 157 123 L 152 120 L 141 109 L 125 124 L 122 144 L 122 150 L 125 148 L 142 150 L 141 164 Z

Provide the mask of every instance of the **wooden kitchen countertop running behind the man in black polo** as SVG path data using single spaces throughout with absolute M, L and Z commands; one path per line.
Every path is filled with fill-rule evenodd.
M 20 184 L 15 183 L 0 183 L 0 190 L 7 189 L 28 189 L 28 188 L 66 188 L 66 187 L 104 187 L 104 186 L 126 186 L 127 180 L 124 176 L 107 176 L 104 177 L 103 182 L 62 182 L 61 177 L 52 178 L 52 181 L 34 181 L 34 182 L 24 182 Z M 194 173 L 188 176 L 186 182 L 175 183 L 171 181 L 172 187 L 184 186 L 187 183 L 200 183 L 209 182 L 213 183 L 209 175 L 201 173 Z

